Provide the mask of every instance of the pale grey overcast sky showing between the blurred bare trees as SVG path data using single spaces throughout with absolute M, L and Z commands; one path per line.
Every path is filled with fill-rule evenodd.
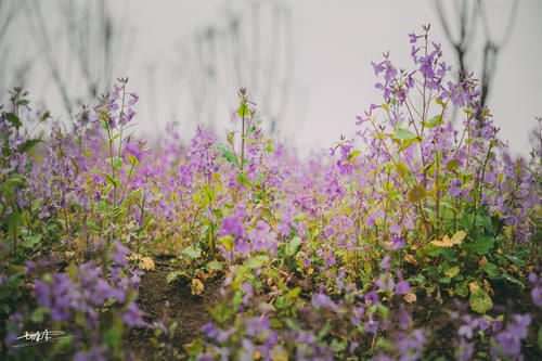
M 41 3 L 47 8 L 48 2 Z M 171 67 L 179 63 L 179 43 L 190 41 L 196 31 L 208 25 L 219 24 L 225 9 L 235 9 L 243 3 L 246 2 L 117 2 L 124 9 L 122 21 L 133 30 L 130 56 L 125 68 L 117 72 L 121 73 L 119 76 L 129 75 L 131 89 L 141 94 L 139 123 L 143 132 L 164 127 L 173 117 Z M 456 64 L 430 0 L 296 0 L 283 3 L 292 11 L 293 57 L 289 109 L 282 120 L 281 133 L 301 149 L 327 149 L 340 134 L 353 134 L 356 116 L 371 103 L 382 103 L 374 89 L 376 78 L 371 61 L 379 61 L 382 52 L 389 50 L 391 60 L 399 66 L 412 66 L 408 34 L 421 31 L 422 24 L 431 23 L 433 39 L 442 43 L 444 60 Z M 491 0 L 486 3 L 492 37 L 499 41 L 504 36 L 512 1 Z M 529 150 L 527 134 L 535 126 L 534 116 L 542 115 L 541 15 L 542 1 L 519 1 L 516 23 L 499 56 L 489 98 L 502 137 L 509 140 L 514 152 L 522 154 Z M 18 23 L 17 26 L 24 27 L 23 20 Z M 477 35 L 481 35 L 480 29 Z M 468 61 L 479 72 L 479 51 L 475 51 L 477 55 Z M 152 80 L 149 78 L 151 68 Z M 57 95 L 50 91 L 51 83 L 43 81 L 48 78 L 44 67 L 40 69 L 38 64 L 34 72 L 35 79 L 28 82 L 28 87 L 38 89 L 34 93 L 46 94 L 50 107 L 60 107 Z M 234 100 L 238 86 L 246 85 L 232 86 L 224 99 L 232 95 L 229 102 Z M 259 104 L 266 102 L 266 99 L 255 100 Z M 205 106 L 212 104 L 206 103 Z M 154 115 L 150 114 L 151 111 Z M 177 116 L 181 125 L 194 127 L 186 119 L 179 119 L 179 114 Z M 217 111 L 216 118 L 219 131 L 229 127 L 227 106 Z M 192 129 L 186 129 L 189 133 Z

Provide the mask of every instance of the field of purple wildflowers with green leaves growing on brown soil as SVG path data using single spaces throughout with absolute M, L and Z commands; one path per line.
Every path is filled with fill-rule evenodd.
M 133 136 L 127 78 L 74 127 L 12 90 L 0 359 L 542 359 L 542 119 L 512 156 L 428 33 L 410 69 L 373 63 L 356 137 L 306 158 L 249 89 L 190 143 Z

